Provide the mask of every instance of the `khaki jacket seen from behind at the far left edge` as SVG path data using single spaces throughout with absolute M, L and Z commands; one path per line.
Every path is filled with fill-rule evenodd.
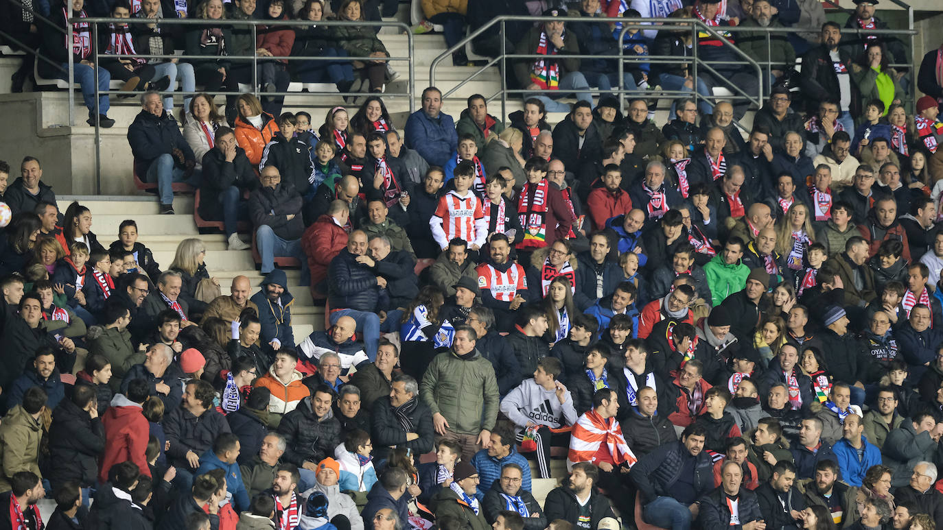
M 11 489 L 8 478 L 21 471 L 40 473 L 39 453 L 42 427 L 39 420 L 17 405 L 0 422 L 0 493 Z

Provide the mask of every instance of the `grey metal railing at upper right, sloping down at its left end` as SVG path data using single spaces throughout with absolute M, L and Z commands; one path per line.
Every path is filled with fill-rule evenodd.
M 834 4 L 830 2 L 829 0 L 825 0 L 825 1 L 837 7 L 837 4 Z M 909 25 L 910 25 L 909 29 L 906 29 L 906 30 L 867 29 L 866 30 L 866 29 L 861 29 L 861 28 L 843 27 L 841 30 L 843 36 L 844 35 L 861 35 L 861 34 L 868 34 L 868 35 L 886 34 L 886 35 L 893 35 L 895 37 L 900 37 L 901 35 L 908 35 L 911 41 L 911 48 L 910 48 L 911 54 L 913 54 L 914 39 L 917 34 L 917 32 L 913 29 L 913 8 L 910 8 L 908 5 L 904 4 L 900 0 L 891 0 L 891 1 L 904 8 L 907 8 L 909 12 Z M 505 24 L 507 22 L 536 23 L 536 22 L 554 22 L 554 21 L 559 22 L 560 19 L 556 17 L 512 16 L 512 15 L 503 15 L 503 16 L 495 17 L 494 19 L 489 21 L 488 24 L 485 24 L 479 27 L 478 29 L 472 31 L 465 38 L 455 43 L 454 46 L 450 47 L 448 50 L 446 50 L 445 52 L 442 52 L 435 59 L 433 59 L 432 64 L 429 67 L 430 84 L 433 86 L 436 85 L 437 69 L 438 69 L 439 63 L 451 57 L 455 51 L 464 50 L 464 48 L 468 45 L 469 42 L 472 42 L 472 40 L 475 40 L 480 35 L 488 31 L 489 29 L 491 29 L 493 26 L 500 24 L 501 28 L 500 28 L 499 36 L 501 40 L 501 53 L 498 56 L 488 59 L 488 61 L 483 66 L 480 66 L 479 68 L 477 68 L 477 70 L 470 73 L 467 77 L 458 81 L 455 84 L 455 86 L 446 90 L 443 93 L 442 97 L 445 98 L 452 95 L 459 88 L 464 87 L 468 83 L 475 80 L 477 77 L 481 76 L 483 73 L 488 72 L 488 69 L 490 67 L 494 65 L 500 65 L 501 72 L 503 72 L 503 75 L 501 76 L 501 88 L 497 92 L 491 94 L 490 96 L 486 96 L 486 101 L 491 102 L 500 98 L 502 119 L 507 120 L 506 104 L 507 104 L 508 95 L 534 93 L 534 90 L 528 90 L 526 88 L 517 88 L 517 89 L 507 88 L 507 81 L 506 81 L 507 76 L 510 75 L 512 72 L 511 69 L 508 69 L 507 59 L 536 59 L 538 57 L 543 57 L 543 56 L 538 55 L 538 54 L 507 54 L 507 50 L 506 50 L 507 40 L 505 38 L 505 35 L 506 35 Z M 728 101 L 747 102 L 749 104 L 753 104 L 756 106 L 762 106 L 763 101 L 765 99 L 764 96 L 769 94 L 769 81 L 768 80 L 770 77 L 770 72 L 772 70 L 778 70 L 778 68 L 776 67 L 786 66 L 788 68 L 792 68 L 794 66 L 794 65 L 783 65 L 782 63 L 778 61 L 769 60 L 772 58 L 771 57 L 771 48 L 772 48 L 771 36 L 774 34 L 789 35 L 789 34 L 795 34 L 797 32 L 813 32 L 813 33 L 820 32 L 820 28 L 805 28 L 805 27 L 762 27 L 758 25 L 757 26 L 721 26 L 721 27 L 718 27 L 718 26 L 709 26 L 697 19 L 677 19 L 677 18 L 637 19 L 637 18 L 622 18 L 622 17 L 617 17 L 617 18 L 566 17 L 563 19 L 563 21 L 566 22 L 567 24 L 580 24 L 580 23 L 593 24 L 593 23 L 617 23 L 617 22 L 622 24 L 622 28 L 619 34 L 619 39 L 616 41 L 619 48 L 618 54 L 608 54 L 608 55 L 567 54 L 567 55 L 558 56 L 560 59 L 579 58 L 579 59 L 616 59 L 617 60 L 617 63 L 618 63 L 617 68 L 618 68 L 618 74 L 619 74 L 618 75 L 618 88 L 612 88 L 608 90 L 603 90 L 599 88 L 591 88 L 588 90 L 580 89 L 581 92 L 589 92 L 590 94 L 603 94 L 603 93 L 613 93 L 613 94 L 620 94 L 620 95 L 621 94 L 634 94 L 640 97 L 658 96 L 658 97 L 670 97 L 672 99 L 676 97 L 687 96 L 687 97 L 694 98 L 696 102 L 701 101 L 703 99 L 707 99 L 709 102 L 715 102 L 719 100 L 728 100 Z M 624 40 L 625 33 L 632 29 L 637 29 L 637 30 L 649 29 L 650 30 L 652 29 L 653 24 L 657 24 L 657 29 L 659 30 L 665 29 L 665 30 L 670 30 L 670 31 L 685 31 L 685 32 L 689 31 L 691 42 L 693 43 L 693 45 L 691 46 L 691 55 L 683 56 L 683 57 L 679 57 L 679 56 L 626 56 L 624 55 L 624 47 L 622 46 L 622 42 Z M 768 60 L 754 60 L 752 57 L 748 56 L 746 53 L 744 53 L 742 50 L 736 47 L 735 43 L 731 42 L 730 40 L 725 39 L 720 34 L 720 31 L 731 32 L 734 34 L 738 32 L 763 33 L 764 38 L 766 40 Z M 721 61 L 721 62 L 703 60 L 703 58 L 698 56 L 699 46 L 697 45 L 697 42 L 699 39 L 703 39 L 703 38 L 699 38 L 699 35 L 698 35 L 699 33 L 703 33 L 707 35 L 708 39 L 719 40 L 723 46 L 729 47 L 733 51 L 733 53 L 742 60 Z M 623 79 L 624 77 L 623 74 L 625 72 L 625 68 L 624 68 L 625 63 L 686 64 L 688 65 L 688 73 L 694 80 L 693 86 L 695 88 L 690 89 L 690 90 L 626 89 L 624 87 L 624 79 Z M 714 68 L 714 66 L 716 65 L 724 65 L 724 66 L 740 65 L 740 66 L 747 67 L 747 69 L 753 72 L 756 72 L 758 87 L 759 87 L 757 93 L 748 94 L 746 93 L 746 91 L 744 91 L 743 88 L 737 87 L 730 79 L 726 78 L 723 75 L 720 75 L 717 72 L 717 70 Z M 910 63 L 895 63 L 890 66 L 913 69 L 913 65 Z M 727 88 L 728 90 L 730 90 L 730 92 L 732 92 L 733 95 L 728 96 L 728 95 L 713 95 L 712 94 L 709 97 L 705 97 L 702 94 L 700 94 L 696 89 L 699 69 L 703 69 L 703 71 L 711 73 L 712 80 L 716 82 L 720 82 L 719 86 L 723 88 Z M 766 75 L 766 77 L 764 77 L 764 74 Z M 650 79 L 650 83 L 652 85 L 655 85 L 655 80 Z M 911 90 L 910 95 L 912 96 L 913 100 L 916 100 L 916 97 L 914 97 L 916 95 L 916 83 L 912 83 L 911 88 L 912 90 Z M 620 97 L 619 100 L 620 100 L 620 110 L 624 111 L 625 98 Z

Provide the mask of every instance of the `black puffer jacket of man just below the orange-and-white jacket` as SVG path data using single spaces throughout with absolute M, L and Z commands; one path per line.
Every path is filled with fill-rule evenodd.
M 341 442 L 340 422 L 334 417 L 334 412 L 328 410 L 319 419 L 311 408 L 310 396 L 303 399 L 295 410 L 285 414 L 278 425 L 278 432 L 288 442 L 282 459 L 297 466 L 306 461 L 320 462 L 334 455 L 334 448 Z

